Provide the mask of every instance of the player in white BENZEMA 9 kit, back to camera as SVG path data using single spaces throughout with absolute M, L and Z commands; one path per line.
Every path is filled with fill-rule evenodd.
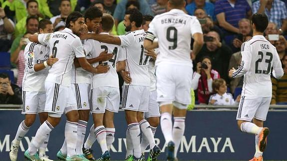
M 161 109 L 161 129 L 168 143 L 167 160 L 177 156 L 178 146 L 185 129 L 187 105 L 190 104 L 192 60 L 191 37 L 194 38 L 193 54 L 203 45 L 202 29 L 195 16 L 185 14 L 185 0 L 169 0 L 170 11 L 157 15 L 149 24 L 144 47 L 159 46 L 157 56 L 156 92 Z M 158 42 L 154 39 L 158 37 Z M 176 66 L 176 67 L 175 67 Z M 174 125 L 172 127 L 172 114 Z

